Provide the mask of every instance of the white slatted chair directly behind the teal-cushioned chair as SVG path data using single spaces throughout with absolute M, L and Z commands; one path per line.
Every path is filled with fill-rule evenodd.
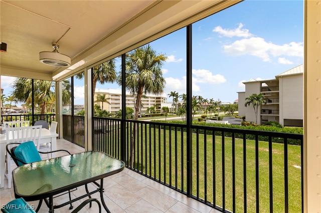
M 41 137 L 41 128 L 41 125 L 6 128 L 7 144 L 11 142 L 21 143 L 33 141 L 35 145 L 38 146 Z M 11 166 L 15 165 L 16 163 L 7 152 L 6 155 L 5 177 L 8 179 L 8 188 L 11 188 Z

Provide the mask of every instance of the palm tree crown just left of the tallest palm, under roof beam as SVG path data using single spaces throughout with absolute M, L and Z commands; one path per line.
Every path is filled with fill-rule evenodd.
M 92 71 L 92 91 L 95 94 L 96 83 L 97 81 L 101 84 L 107 82 L 114 82 L 116 80 L 116 69 L 115 69 L 115 61 L 114 59 L 110 59 L 106 62 L 103 62 L 97 66 L 93 67 Z M 84 78 L 84 72 L 80 72 L 76 74 L 78 79 Z

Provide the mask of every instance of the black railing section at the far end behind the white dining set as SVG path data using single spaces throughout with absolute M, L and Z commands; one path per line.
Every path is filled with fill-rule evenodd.
M 15 114 L 15 115 L 1 115 L 1 123 L 13 120 L 30 120 L 33 125 L 37 120 L 46 120 L 49 124 L 56 120 L 56 114 Z

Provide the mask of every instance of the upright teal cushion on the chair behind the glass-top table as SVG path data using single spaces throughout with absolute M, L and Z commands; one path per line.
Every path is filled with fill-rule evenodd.
M 23 142 L 18 145 L 15 149 L 15 155 L 18 159 L 21 159 L 22 161 L 27 163 L 41 160 L 41 156 L 33 141 Z M 18 164 L 23 165 L 24 163 L 18 161 Z

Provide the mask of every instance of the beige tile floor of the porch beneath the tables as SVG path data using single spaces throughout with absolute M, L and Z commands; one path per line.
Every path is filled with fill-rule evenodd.
M 72 153 L 84 151 L 83 148 L 64 139 L 57 139 L 57 148 L 67 149 Z M 95 188 L 91 183 L 88 186 L 89 190 Z M 84 186 L 78 187 L 72 192 L 72 196 L 82 194 L 84 191 Z M 92 197 L 99 198 L 99 193 L 93 194 Z M 5 182 L 5 188 L 0 189 L 0 204 L 6 204 L 14 198 L 13 188 L 8 189 L 8 183 Z M 68 194 L 54 198 L 56 203 L 66 200 Z M 104 179 L 104 200 L 111 212 L 220 212 L 127 168 Z M 81 200 L 74 202 L 73 206 L 78 206 L 80 202 Z M 29 203 L 36 207 L 38 205 L 38 201 Z M 102 212 L 104 211 L 102 209 Z M 48 212 L 44 202 L 39 212 Z M 66 205 L 56 209 L 55 212 L 71 212 L 71 210 L 69 205 Z M 98 212 L 98 206 L 93 203 L 90 208 L 87 204 L 80 212 Z

